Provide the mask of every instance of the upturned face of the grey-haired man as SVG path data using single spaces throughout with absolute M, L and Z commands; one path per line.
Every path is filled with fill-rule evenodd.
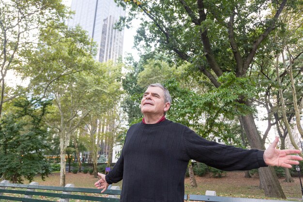
M 170 104 L 164 101 L 164 92 L 159 87 L 149 87 L 141 100 L 141 112 L 143 114 L 164 115 Z

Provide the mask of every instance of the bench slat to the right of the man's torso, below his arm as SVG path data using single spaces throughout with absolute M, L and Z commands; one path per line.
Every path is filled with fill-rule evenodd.
M 234 197 L 205 196 L 205 195 L 189 195 L 189 201 L 203 201 L 203 202 L 290 202 L 290 201 L 281 201 L 281 200 L 249 199 L 249 198 L 234 198 Z

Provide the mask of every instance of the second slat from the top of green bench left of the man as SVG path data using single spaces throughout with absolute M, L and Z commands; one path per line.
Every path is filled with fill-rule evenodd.
M 99 197 L 99 196 L 84 196 L 84 195 L 76 195 L 76 194 L 60 194 L 60 193 L 50 193 L 50 192 L 39 192 L 39 191 L 25 191 L 25 190 L 14 190 L 14 189 L 6 189 L 2 191 L 2 193 L 12 193 L 12 194 L 25 194 L 25 195 L 34 195 L 34 196 L 48 196 L 48 197 L 56 197 L 63 199 L 80 199 L 87 201 L 96 201 L 96 202 L 119 202 L 120 199 L 117 198 L 107 198 L 107 197 Z

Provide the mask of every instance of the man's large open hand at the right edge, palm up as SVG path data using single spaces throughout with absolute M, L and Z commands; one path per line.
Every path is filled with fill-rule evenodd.
M 284 168 L 291 168 L 291 165 L 298 165 L 299 161 L 302 161 L 303 158 L 298 155 L 291 154 L 300 154 L 300 150 L 296 149 L 286 149 L 278 150 L 276 145 L 279 141 L 278 137 L 275 137 L 273 143 L 265 150 L 264 152 L 264 161 L 268 166 L 280 166 Z

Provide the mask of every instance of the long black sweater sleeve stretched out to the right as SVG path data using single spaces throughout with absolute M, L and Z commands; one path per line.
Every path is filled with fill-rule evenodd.
M 264 151 L 209 141 L 189 128 L 185 129 L 183 138 L 188 157 L 208 166 L 224 171 L 245 171 L 267 166 L 263 159 Z

